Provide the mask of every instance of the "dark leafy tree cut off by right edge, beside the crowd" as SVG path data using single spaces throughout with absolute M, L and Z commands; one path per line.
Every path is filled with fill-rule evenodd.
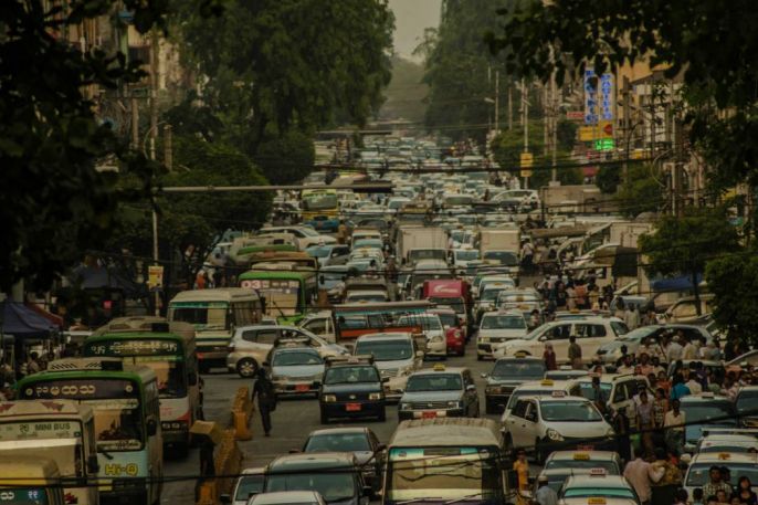
M 708 290 L 716 296 L 713 317 L 729 335 L 758 336 L 758 254 L 740 251 L 710 260 L 705 269 Z

